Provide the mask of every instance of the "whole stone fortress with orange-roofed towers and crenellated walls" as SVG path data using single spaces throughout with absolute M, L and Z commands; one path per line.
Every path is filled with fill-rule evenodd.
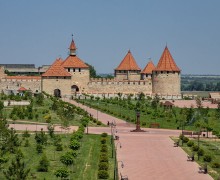
M 114 78 L 90 78 L 89 66 L 76 55 L 76 45 L 72 39 L 69 56 L 56 59 L 41 76 L 7 76 L 0 67 L 0 90 L 32 92 L 45 91 L 58 97 L 79 94 L 113 97 L 144 93 L 148 96 L 158 94 L 165 99 L 180 99 L 180 73 L 168 47 L 166 46 L 157 66 L 149 61 L 141 69 L 131 51 L 114 70 Z

